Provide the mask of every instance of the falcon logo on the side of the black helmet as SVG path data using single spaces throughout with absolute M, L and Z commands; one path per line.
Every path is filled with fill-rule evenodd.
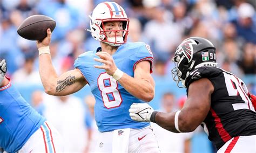
M 175 54 L 180 55 L 183 53 L 185 55 L 185 57 L 187 58 L 188 62 L 190 62 L 193 58 L 193 53 L 194 53 L 192 45 L 197 45 L 197 43 L 191 39 L 184 40 L 183 43 L 181 43 L 178 46 Z

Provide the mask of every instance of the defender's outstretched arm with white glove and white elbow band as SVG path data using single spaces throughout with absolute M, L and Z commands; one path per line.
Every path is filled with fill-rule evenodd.
M 153 112 L 146 103 L 133 103 L 129 109 L 132 120 L 155 122 L 174 133 L 190 132 L 204 121 L 211 106 L 211 94 L 214 88 L 208 79 L 194 81 L 188 89 L 188 98 L 178 112 Z

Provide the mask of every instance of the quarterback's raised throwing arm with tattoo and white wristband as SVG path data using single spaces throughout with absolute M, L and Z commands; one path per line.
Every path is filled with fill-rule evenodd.
M 47 37 L 42 42 L 37 41 L 39 50 L 39 74 L 47 94 L 65 96 L 79 91 L 87 82 L 79 69 L 68 71 L 58 77 L 52 66 L 50 45 L 51 31 L 47 30 Z

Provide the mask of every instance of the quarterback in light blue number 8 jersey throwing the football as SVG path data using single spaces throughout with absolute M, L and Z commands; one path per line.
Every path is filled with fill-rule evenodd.
M 96 151 L 159 152 L 150 123 L 131 120 L 133 102 L 145 103 L 154 97 L 151 77 L 153 54 L 145 43 L 126 43 L 129 19 L 122 6 L 103 2 L 89 16 L 92 37 L 100 47 L 85 52 L 75 61 L 75 69 L 58 77 L 51 63 L 51 31 L 39 50 L 39 73 L 45 92 L 64 96 L 85 85 L 95 96 L 95 117 L 99 141 Z

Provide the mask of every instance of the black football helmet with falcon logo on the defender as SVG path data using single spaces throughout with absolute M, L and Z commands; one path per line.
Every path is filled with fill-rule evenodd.
M 190 37 L 177 47 L 172 61 L 175 63 L 172 78 L 178 87 L 185 87 L 186 77 L 194 68 L 217 65 L 215 47 L 205 38 Z M 183 86 L 179 86 L 180 81 Z

